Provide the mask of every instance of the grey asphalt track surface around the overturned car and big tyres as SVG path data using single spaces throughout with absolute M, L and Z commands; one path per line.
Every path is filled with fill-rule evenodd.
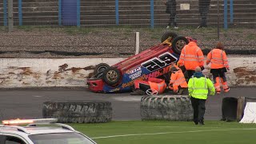
M 166 94 L 167 95 L 167 94 Z M 240 96 L 256 98 L 256 87 L 231 88 L 228 94 L 216 94 L 206 101 L 206 120 L 222 117 L 222 98 Z M 142 96 L 129 93 L 99 94 L 86 89 L 20 89 L 1 90 L 0 120 L 12 118 L 42 118 L 43 102 L 107 101 L 113 108 L 113 120 L 140 120 Z

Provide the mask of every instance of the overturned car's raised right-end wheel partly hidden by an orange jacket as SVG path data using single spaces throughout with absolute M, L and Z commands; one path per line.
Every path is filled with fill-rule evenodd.
M 171 42 L 171 46 L 174 50 L 174 53 L 181 54 L 183 47 L 186 46 L 188 43 L 189 41 L 185 37 L 178 36 L 173 39 L 173 41 Z

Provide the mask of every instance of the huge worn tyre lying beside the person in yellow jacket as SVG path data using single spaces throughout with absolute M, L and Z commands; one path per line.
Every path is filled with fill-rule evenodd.
M 142 97 L 142 120 L 192 121 L 193 108 L 185 95 Z

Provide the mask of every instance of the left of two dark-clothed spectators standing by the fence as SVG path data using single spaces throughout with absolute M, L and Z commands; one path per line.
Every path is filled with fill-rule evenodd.
M 170 19 L 168 22 L 168 26 L 166 28 L 168 29 L 171 26 L 174 26 L 174 29 L 178 29 L 177 18 L 176 18 L 176 0 L 167 0 L 167 2 L 165 2 L 165 5 L 166 5 L 166 13 L 170 14 Z

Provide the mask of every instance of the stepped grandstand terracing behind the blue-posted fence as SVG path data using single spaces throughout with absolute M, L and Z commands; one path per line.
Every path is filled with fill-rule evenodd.
M 0 2 L 0 26 L 4 26 L 5 9 L 3 0 Z M 231 0 L 233 2 L 233 0 Z M 23 26 L 58 26 L 62 25 L 63 17 L 60 18 L 59 0 L 22 0 L 22 14 L 18 13 L 18 0 L 14 0 L 14 25 L 18 26 L 22 21 Z M 67 0 L 62 0 L 67 2 Z M 76 2 L 76 1 L 72 1 Z M 163 0 L 154 0 L 154 10 L 150 6 L 153 0 L 81 0 L 80 2 L 80 24 L 81 26 L 139 26 L 152 25 L 154 16 L 154 27 L 166 26 L 169 15 L 165 13 L 166 6 Z M 180 4 L 190 4 L 190 10 L 181 10 Z M 118 9 L 116 5 L 118 4 Z M 62 5 L 63 6 L 63 5 Z M 75 10 L 75 11 L 74 11 Z M 118 10 L 118 13 L 116 13 Z M 152 10 L 154 14 L 152 14 Z M 198 26 L 200 20 L 198 14 L 198 0 L 177 1 L 177 14 L 179 26 Z M 230 0 L 227 0 L 227 22 L 229 25 L 246 26 L 254 28 L 256 25 L 256 1 L 235 0 L 233 2 L 234 21 L 230 22 Z M 8 10 L 6 10 L 8 11 Z M 76 8 L 67 13 L 76 13 Z M 64 13 L 63 13 L 64 14 Z M 224 0 L 211 0 L 210 13 L 208 14 L 208 25 L 217 26 L 218 16 L 220 25 L 224 22 Z M 20 17 L 20 18 L 19 18 Z

